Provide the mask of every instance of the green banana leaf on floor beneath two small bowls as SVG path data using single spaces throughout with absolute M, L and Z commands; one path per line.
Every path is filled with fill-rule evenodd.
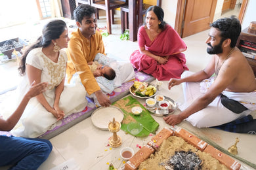
M 152 118 L 150 112 L 137 101 L 137 99 L 131 97 L 130 95 L 123 98 L 119 99 L 118 101 L 114 102 L 112 105 L 118 107 L 123 111 L 123 121 L 121 122 L 121 129 L 123 131 L 126 131 L 127 133 L 131 134 L 127 130 L 127 126 L 132 123 L 132 122 L 139 122 L 142 124 L 143 129 L 138 133 L 137 137 L 146 137 L 150 135 L 150 133 L 156 134 L 156 131 L 158 130 L 159 124 Z M 142 108 L 142 113 L 140 115 L 134 115 L 131 112 L 131 109 L 133 107 L 141 107 Z M 131 134 L 133 135 L 133 134 Z

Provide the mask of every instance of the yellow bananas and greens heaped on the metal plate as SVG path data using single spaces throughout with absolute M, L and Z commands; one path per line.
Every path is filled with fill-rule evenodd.
M 148 82 L 135 81 L 131 91 L 140 97 L 150 97 L 156 93 L 156 87 L 148 84 Z

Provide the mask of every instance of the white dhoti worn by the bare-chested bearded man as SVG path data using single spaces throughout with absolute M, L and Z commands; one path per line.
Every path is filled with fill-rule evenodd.
M 181 78 L 184 78 L 186 76 L 190 76 L 194 73 L 191 71 L 184 71 L 182 73 Z M 183 93 L 184 93 L 184 103 L 179 107 L 181 111 L 185 110 L 189 105 L 193 103 L 200 95 L 203 95 L 203 92 L 207 90 L 208 86 L 210 86 L 211 80 L 205 80 L 203 84 L 205 86 L 200 87 L 200 82 L 184 82 L 182 83 Z M 201 84 L 201 85 L 203 85 Z M 201 90 L 200 90 L 201 89 Z M 203 91 L 203 92 L 202 92 Z M 232 95 L 234 95 L 234 92 L 223 92 L 224 95 L 229 97 L 230 99 L 234 99 Z M 238 95 L 239 94 L 239 95 Z M 249 95 L 249 97 L 247 97 Z M 194 114 L 188 116 L 186 118 L 186 121 L 190 122 L 192 126 L 196 127 L 213 127 L 213 126 L 219 126 L 222 124 L 226 124 L 228 122 L 232 122 L 233 120 L 236 120 L 238 118 L 242 118 L 244 116 L 247 116 L 252 112 L 252 110 L 256 110 L 255 103 L 253 104 L 253 99 L 256 99 L 256 92 L 251 93 L 236 93 L 235 100 L 238 100 L 238 96 L 240 99 L 244 99 L 243 101 L 246 101 L 245 103 L 242 103 L 245 107 L 247 107 L 247 110 L 240 114 L 236 114 L 232 112 L 231 110 L 226 109 L 221 103 L 221 95 L 218 95 L 205 109 L 202 109 L 198 112 L 195 112 Z M 255 102 L 255 101 L 254 101 Z

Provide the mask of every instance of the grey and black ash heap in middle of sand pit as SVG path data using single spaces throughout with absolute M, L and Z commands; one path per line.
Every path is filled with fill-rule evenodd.
M 201 169 L 200 163 L 202 160 L 198 158 L 198 156 L 191 151 L 185 152 L 175 152 L 175 155 L 170 158 L 165 163 L 165 169 L 183 169 L 183 170 L 192 170 L 192 169 Z

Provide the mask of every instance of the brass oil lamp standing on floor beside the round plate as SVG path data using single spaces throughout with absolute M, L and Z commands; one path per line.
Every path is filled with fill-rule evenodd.
M 117 131 L 120 130 L 120 127 L 121 124 L 119 122 L 116 122 L 115 118 L 113 118 L 113 122 L 110 122 L 108 124 L 108 130 L 113 133 L 113 136 L 110 137 L 108 143 L 114 148 L 117 148 L 121 145 L 121 137 L 117 135 Z

